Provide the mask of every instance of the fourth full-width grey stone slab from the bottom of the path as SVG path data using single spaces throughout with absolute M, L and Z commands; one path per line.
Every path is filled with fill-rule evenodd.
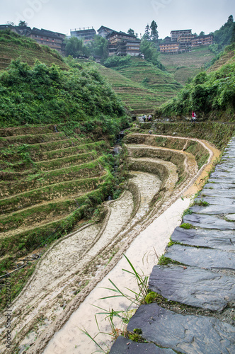
M 210 247 L 224 251 L 235 251 L 235 232 L 231 230 L 183 229 L 176 227 L 171 235 L 173 242 L 190 246 Z

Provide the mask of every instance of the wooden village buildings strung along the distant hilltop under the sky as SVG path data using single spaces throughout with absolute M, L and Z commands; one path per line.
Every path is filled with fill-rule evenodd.
M 0 30 L 5 29 L 13 30 L 13 32 L 23 35 L 25 37 L 33 38 L 40 45 L 48 45 L 48 47 L 58 50 L 60 53 L 64 53 L 64 39 L 66 35 L 63 33 L 53 32 L 51 30 L 31 29 L 28 26 L 16 26 L 16 25 L 0 25 Z M 84 42 L 93 40 L 95 35 L 108 40 L 108 55 L 131 55 L 133 57 L 141 55 L 139 45 L 141 40 L 135 35 L 117 32 L 111 28 L 101 26 L 96 30 L 92 28 L 79 28 L 70 30 L 71 37 L 75 36 L 79 39 L 83 39 Z M 193 35 L 192 30 L 172 30 L 171 37 L 166 37 L 159 43 L 159 49 L 161 53 L 177 54 L 180 52 L 188 52 L 193 47 L 199 47 L 201 45 L 212 45 L 213 35 Z

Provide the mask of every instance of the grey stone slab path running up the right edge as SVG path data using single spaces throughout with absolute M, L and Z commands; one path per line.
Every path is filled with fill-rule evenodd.
M 187 305 L 184 312 L 156 302 L 140 306 L 127 330 L 141 329 L 145 343 L 119 337 L 110 354 L 235 353 L 234 197 L 235 137 L 183 217 L 191 229 L 176 227 L 174 244 L 166 249 L 168 265 L 154 265 L 149 278 L 151 291 L 178 309 Z

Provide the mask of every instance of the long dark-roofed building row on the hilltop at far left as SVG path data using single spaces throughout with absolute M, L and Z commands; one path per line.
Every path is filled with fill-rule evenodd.
M 48 47 L 58 50 L 58 52 L 63 52 L 64 50 L 64 38 L 63 33 L 53 32 L 52 30 L 33 28 L 33 30 L 28 26 L 17 26 L 17 25 L 0 25 L 0 30 L 12 30 L 18 35 L 23 37 L 32 38 L 40 45 L 48 45 Z

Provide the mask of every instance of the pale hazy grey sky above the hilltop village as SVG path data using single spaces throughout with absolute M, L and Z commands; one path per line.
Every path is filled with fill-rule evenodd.
M 0 24 L 26 21 L 33 28 L 45 28 L 69 35 L 70 29 L 101 25 L 144 34 L 156 21 L 159 38 L 171 30 L 192 29 L 207 34 L 220 28 L 229 15 L 235 18 L 234 0 L 0 0 Z

